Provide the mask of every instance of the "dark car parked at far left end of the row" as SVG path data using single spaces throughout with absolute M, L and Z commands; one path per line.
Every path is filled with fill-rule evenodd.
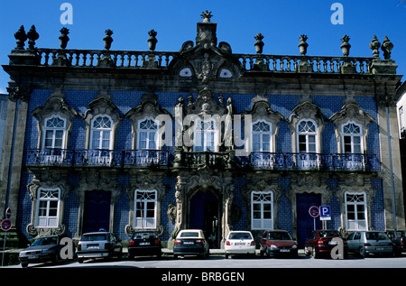
M 60 261 L 60 250 L 65 244 L 60 244 L 64 235 L 45 235 L 37 238 L 30 246 L 23 249 L 18 255 L 18 260 L 23 267 L 29 263 L 56 263 Z M 72 244 L 73 245 L 73 244 Z M 73 247 L 72 252 L 75 249 Z

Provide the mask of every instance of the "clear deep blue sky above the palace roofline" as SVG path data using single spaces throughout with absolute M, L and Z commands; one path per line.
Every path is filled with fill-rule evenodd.
M 71 10 L 61 9 L 65 3 Z M 66 27 L 67 49 L 104 50 L 103 37 L 110 29 L 111 50 L 148 51 L 153 29 L 158 32 L 156 51 L 179 51 L 183 42 L 195 41 L 196 23 L 206 10 L 217 23 L 218 42 L 229 43 L 235 53 L 254 54 L 254 36 L 261 32 L 263 54 L 300 55 L 299 37 L 306 34 L 309 56 L 342 56 L 340 39 L 348 35 L 349 56 L 372 57 L 374 35 L 381 43 L 388 36 L 397 73 L 405 75 L 401 81 L 406 78 L 406 1 L 401 0 L 2 0 L 0 64 L 8 64 L 16 46 L 14 32 L 21 25 L 28 32 L 32 24 L 40 34 L 38 48 L 59 49 L 60 29 Z M 62 23 L 70 12 L 72 22 Z M 0 69 L 0 93 L 6 93 L 8 81 Z

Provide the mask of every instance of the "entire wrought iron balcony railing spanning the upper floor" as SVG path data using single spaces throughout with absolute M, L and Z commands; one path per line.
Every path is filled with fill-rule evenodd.
M 235 158 L 233 152 L 180 152 L 171 161 L 167 150 L 65 150 L 30 149 L 27 166 L 60 167 L 250 167 L 271 171 L 380 171 L 374 154 L 251 152 Z

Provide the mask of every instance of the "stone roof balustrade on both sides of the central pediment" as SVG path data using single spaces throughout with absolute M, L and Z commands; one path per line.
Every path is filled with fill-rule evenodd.
M 116 68 L 161 68 L 167 69 L 171 60 L 179 55 L 177 51 L 106 51 L 106 50 L 64 50 L 37 49 L 41 66 L 59 65 L 59 55 L 65 55 L 71 67 L 97 67 L 105 57 L 111 67 Z M 367 74 L 374 58 L 368 57 L 318 57 L 266 54 L 234 54 L 245 70 L 298 72 L 306 64 L 308 72 L 340 73 L 342 67 L 350 66 L 352 72 Z M 151 66 L 151 61 L 155 62 Z

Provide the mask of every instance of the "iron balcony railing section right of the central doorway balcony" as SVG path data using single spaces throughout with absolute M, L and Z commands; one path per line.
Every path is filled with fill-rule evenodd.
M 374 154 L 252 152 L 247 164 L 254 169 L 305 171 L 380 171 Z

